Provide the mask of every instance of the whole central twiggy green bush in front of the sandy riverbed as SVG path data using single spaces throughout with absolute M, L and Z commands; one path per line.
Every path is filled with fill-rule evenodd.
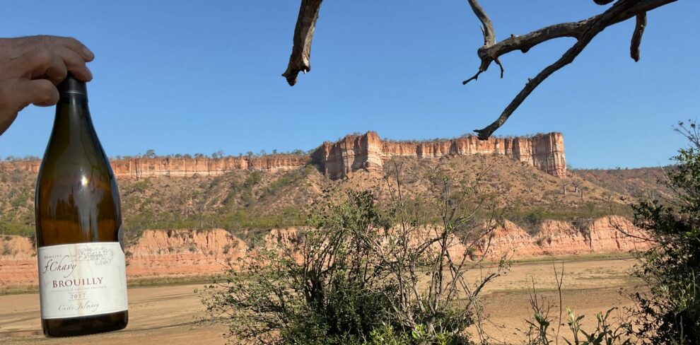
M 467 189 L 460 190 L 438 195 Z M 447 207 L 444 228 L 436 231 L 419 226 L 401 201 L 383 210 L 375 200 L 372 192 L 349 190 L 340 202 L 317 204 L 296 255 L 289 247 L 261 246 L 260 257 L 232 263 L 226 281 L 202 292 L 209 317 L 227 324 L 239 342 L 469 344 L 478 291 L 498 273 L 489 270 L 475 293 L 455 289 L 469 284 L 463 261 L 445 254 L 450 235 L 469 220 L 456 208 L 462 204 L 431 203 Z M 419 242 L 409 245 L 409 238 Z M 426 271 L 416 271 L 419 264 Z M 453 271 L 459 283 L 443 279 L 443 271 Z M 432 285 L 419 286 L 421 276 Z

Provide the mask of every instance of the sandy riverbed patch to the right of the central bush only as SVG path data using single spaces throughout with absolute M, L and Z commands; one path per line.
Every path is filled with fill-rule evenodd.
M 581 324 L 590 332 L 595 329 L 595 314 L 598 312 L 605 314 L 610 308 L 618 308 L 610 313 L 612 320 L 609 321 L 614 321 L 619 312 L 632 305 L 625 296 L 638 288 L 639 282 L 629 275 L 635 263 L 635 259 L 564 262 L 560 339 L 573 339 L 566 324 L 566 307 L 576 315 L 585 315 Z M 549 317 L 556 329 L 559 324 L 559 293 L 552 266 L 552 262 L 516 264 L 508 275 L 486 288 L 484 303 L 489 319 L 484 322 L 484 329 L 491 344 L 523 344 L 523 331 L 527 330 L 525 319 L 533 320 L 530 307 L 533 281 L 537 295 L 544 298 L 545 305 L 552 306 Z M 556 267 L 561 272 L 561 261 Z M 476 334 L 473 327 L 470 330 Z M 559 344 L 566 343 L 560 341 Z

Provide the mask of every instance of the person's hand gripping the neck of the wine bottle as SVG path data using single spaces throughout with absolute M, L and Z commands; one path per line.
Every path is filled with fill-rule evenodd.
M 90 49 L 71 37 L 0 38 L 0 135 L 28 105 L 56 104 L 56 86 L 69 72 L 91 81 L 86 63 L 94 58 Z

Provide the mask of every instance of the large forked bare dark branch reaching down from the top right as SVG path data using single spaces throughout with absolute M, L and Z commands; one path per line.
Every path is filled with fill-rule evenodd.
M 626 21 L 629 18 L 637 18 L 637 28 L 632 38 L 632 45 L 630 47 L 633 59 L 638 59 L 638 48 L 639 42 L 641 42 L 641 34 L 643 33 L 643 28 L 646 25 L 646 12 L 651 11 L 660 6 L 670 4 L 676 0 L 618 0 L 613 6 L 608 8 L 605 12 L 593 16 L 591 18 L 579 21 L 576 23 L 561 23 L 556 25 L 548 26 L 547 28 L 542 28 L 535 30 L 532 33 L 528 33 L 523 36 L 511 35 L 511 37 L 506 40 L 502 40 L 498 43 L 489 44 L 489 35 L 494 35 L 493 24 L 491 23 L 489 17 L 486 15 L 484 9 L 479 6 L 478 0 L 467 0 L 469 1 L 469 6 L 472 7 L 472 11 L 482 22 L 484 28 L 491 28 L 486 30 L 482 28 L 484 33 L 484 45 L 479 47 L 477 54 L 479 59 L 481 59 L 481 64 L 477 74 L 474 74 L 471 78 L 463 81 L 463 84 L 468 83 L 472 80 L 477 80 L 479 74 L 486 71 L 491 65 L 491 62 L 498 62 L 498 58 L 509 52 L 515 50 L 520 50 L 521 52 L 527 52 L 530 48 L 535 45 L 539 45 L 542 42 L 552 40 L 559 37 L 573 37 L 576 38 L 577 42 L 570 48 L 564 55 L 543 69 L 535 78 L 531 78 L 525 84 L 523 90 L 515 96 L 511 103 L 506 107 L 501 113 L 501 116 L 491 123 L 488 127 L 484 129 L 475 129 L 474 131 L 479 134 L 479 139 L 485 140 L 489 139 L 489 136 L 501 127 L 508 117 L 510 117 L 513 112 L 523 103 L 523 100 L 527 98 L 530 93 L 532 93 L 537 86 L 539 86 L 544 79 L 551 76 L 554 72 L 558 71 L 567 64 L 571 64 L 574 59 L 581 54 L 583 49 L 588 45 L 588 43 L 593 40 L 593 37 L 600 33 L 605 28 Z M 605 5 L 611 3 L 613 0 L 594 0 L 596 4 Z M 636 54 L 636 55 L 635 55 Z M 636 57 L 636 58 L 635 58 Z M 503 66 L 501 66 L 501 77 L 503 76 Z

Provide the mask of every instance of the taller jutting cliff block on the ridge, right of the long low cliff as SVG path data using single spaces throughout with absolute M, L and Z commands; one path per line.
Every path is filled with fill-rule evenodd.
M 537 134 L 527 138 L 479 140 L 465 136 L 444 141 L 382 141 L 368 131 L 349 135 L 335 143 L 325 142 L 311 154 L 311 160 L 332 179 L 349 177 L 359 169 L 380 170 L 392 157 L 439 158 L 475 154 L 503 155 L 535 166 L 556 177 L 566 176 L 564 136 Z

